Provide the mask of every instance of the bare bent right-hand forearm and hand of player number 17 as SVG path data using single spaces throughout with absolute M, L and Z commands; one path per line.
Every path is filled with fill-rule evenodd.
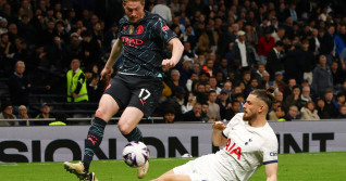
M 172 38 L 169 41 L 169 44 L 173 46 L 173 51 L 172 51 L 171 59 L 162 61 L 162 68 L 164 70 L 168 70 L 174 67 L 181 61 L 181 57 L 184 51 L 184 46 L 182 44 L 181 40 L 177 38 Z

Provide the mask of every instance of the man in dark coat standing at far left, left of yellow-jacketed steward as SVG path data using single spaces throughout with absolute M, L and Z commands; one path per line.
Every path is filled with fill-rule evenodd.
M 9 89 L 11 94 L 11 103 L 14 111 L 17 112 L 17 106 L 29 105 L 29 93 L 32 90 L 32 80 L 25 72 L 25 63 L 18 61 L 15 63 L 14 73 L 9 78 Z

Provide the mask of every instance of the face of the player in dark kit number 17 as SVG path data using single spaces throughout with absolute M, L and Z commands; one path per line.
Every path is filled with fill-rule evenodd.
M 128 1 L 123 4 L 125 14 L 131 23 L 136 23 L 144 16 L 144 5 L 140 1 Z

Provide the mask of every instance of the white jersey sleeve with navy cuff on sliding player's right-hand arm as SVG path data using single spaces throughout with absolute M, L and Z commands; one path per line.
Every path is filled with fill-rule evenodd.
M 263 154 L 263 165 L 277 163 L 277 139 L 275 134 L 267 140 L 261 147 Z

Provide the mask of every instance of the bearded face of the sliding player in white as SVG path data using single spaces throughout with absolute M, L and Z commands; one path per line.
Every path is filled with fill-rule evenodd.
M 244 106 L 244 120 L 254 120 L 257 117 L 258 111 L 261 107 L 262 101 L 257 99 L 256 95 L 249 94 L 246 99 Z

